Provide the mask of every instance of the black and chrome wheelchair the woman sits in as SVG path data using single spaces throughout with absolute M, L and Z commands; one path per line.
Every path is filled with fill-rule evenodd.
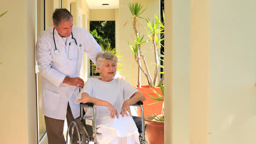
M 139 142 L 141 144 L 148 144 L 148 142 L 145 139 L 145 124 L 144 124 L 144 111 L 143 111 L 143 102 L 138 101 L 136 104 L 133 104 L 131 106 L 137 106 L 141 108 L 141 115 L 142 117 L 136 117 L 132 116 L 133 120 L 136 123 L 136 126 L 138 128 L 139 133 Z M 83 116 L 85 115 L 84 107 L 93 109 L 93 118 L 92 119 L 84 119 Z M 147 126 L 147 125 L 146 125 Z M 77 137 L 78 137 L 78 143 L 79 144 L 89 144 L 89 142 L 97 143 L 97 130 L 96 130 L 96 109 L 93 103 L 80 103 L 80 116 L 74 121 L 72 121 L 67 130 L 66 135 L 66 144 L 72 144 L 73 143 L 73 136 L 74 131 L 76 131 Z M 70 136 L 69 136 L 70 133 Z M 68 136 L 69 141 L 68 141 Z M 74 143 L 73 143 L 74 144 Z

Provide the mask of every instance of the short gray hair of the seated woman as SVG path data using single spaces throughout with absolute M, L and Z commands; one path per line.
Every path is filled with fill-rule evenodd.
M 96 67 L 101 68 L 102 61 L 107 60 L 108 62 L 115 62 L 118 63 L 117 56 L 111 52 L 99 52 L 96 56 Z

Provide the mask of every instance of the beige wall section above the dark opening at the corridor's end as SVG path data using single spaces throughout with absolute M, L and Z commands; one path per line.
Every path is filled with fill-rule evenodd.
M 90 9 L 90 21 L 115 21 L 115 9 Z

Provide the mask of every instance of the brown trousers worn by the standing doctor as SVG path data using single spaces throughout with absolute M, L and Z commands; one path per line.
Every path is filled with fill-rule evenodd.
M 74 117 L 72 115 L 71 108 L 67 106 L 67 123 L 69 125 L 70 122 L 74 121 Z M 65 137 L 63 135 L 63 127 L 64 127 L 64 120 L 60 119 L 54 119 L 50 117 L 44 116 L 45 121 L 45 127 L 48 137 L 48 144 L 65 144 Z M 75 135 L 75 133 L 74 133 Z M 75 141 L 77 138 L 73 137 L 73 140 Z

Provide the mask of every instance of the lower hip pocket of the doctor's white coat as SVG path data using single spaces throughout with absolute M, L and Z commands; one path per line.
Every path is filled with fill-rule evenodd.
M 44 89 L 42 99 L 42 107 L 48 110 L 56 110 L 60 101 L 60 94 Z

